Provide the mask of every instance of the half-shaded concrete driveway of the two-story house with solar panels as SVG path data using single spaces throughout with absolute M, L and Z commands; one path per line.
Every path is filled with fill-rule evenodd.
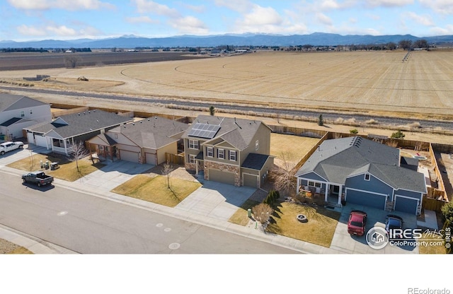
M 204 181 L 202 187 L 187 196 L 176 208 L 219 220 L 229 220 L 255 191 L 256 189 L 251 187 L 234 187 Z

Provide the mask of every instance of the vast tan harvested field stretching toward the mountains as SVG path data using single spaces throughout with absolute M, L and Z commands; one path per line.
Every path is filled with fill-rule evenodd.
M 453 54 L 411 52 L 256 52 L 234 57 L 0 71 L 0 80 L 50 75 L 52 86 L 270 107 L 355 110 L 449 117 Z M 76 81 L 86 76 L 90 81 Z

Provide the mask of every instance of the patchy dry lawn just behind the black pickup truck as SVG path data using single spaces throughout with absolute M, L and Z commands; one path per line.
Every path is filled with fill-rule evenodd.
M 49 161 L 49 163 L 59 163 L 59 169 L 57 170 L 45 170 L 41 168 L 40 161 L 45 163 Z M 93 165 L 91 160 L 88 158 L 84 158 L 79 160 L 79 171 L 76 167 L 76 162 L 68 161 L 64 158 L 52 157 L 50 155 L 43 155 L 43 154 L 35 154 L 33 156 L 29 156 L 27 158 L 23 158 L 18 160 L 14 163 L 8 165 L 8 167 L 13 167 L 18 170 L 25 170 L 26 172 L 31 172 L 34 170 L 42 170 L 47 175 L 51 175 L 60 180 L 66 180 L 69 182 L 74 182 L 79 180 L 81 177 L 85 177 L 86 175 L 91 174 L 91 172 L 95 172 L 102 168 L 102 163 L 96 163 Z

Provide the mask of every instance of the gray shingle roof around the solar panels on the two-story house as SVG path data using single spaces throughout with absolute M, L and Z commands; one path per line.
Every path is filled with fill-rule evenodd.
M 260 125 L 265 125 L 263 122 L 257 120 L 236 119 L 234 117 L 216 117 L 213 115 L 199 115 L 193 124 L 195 124 L 195 122 L 219 125 L 220 129 L 214 139 L 222 138 L 239 150 L 247 148 Z M 197 137 L 188 135 L 191 127 L 193 127 L 193 124 L 187 131 L 185 131 L 183 138 L 197 139 Z

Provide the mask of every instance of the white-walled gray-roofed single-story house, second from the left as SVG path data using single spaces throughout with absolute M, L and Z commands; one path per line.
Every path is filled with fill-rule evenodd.
M 85 142 L 97 134 L 132 120 L 130 117 L 103 110 L 86 110 L 62 115 L 53 122 L 42 122 L 26 127 L 25 131 L 28 143 L 68 155 L 72 152 L 75 143 Z

